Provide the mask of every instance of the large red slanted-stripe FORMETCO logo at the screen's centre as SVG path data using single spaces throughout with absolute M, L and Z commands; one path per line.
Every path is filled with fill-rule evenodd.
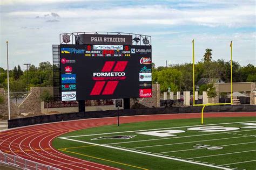
M 113 95 L 120 80 L 125 80 L 124 70 L 128 61 L 106 61 L 101 73 L 93 73 L 93 80 L 97 80 L 90 95 Z M 114 80 L 114 81 L 107 81 Z

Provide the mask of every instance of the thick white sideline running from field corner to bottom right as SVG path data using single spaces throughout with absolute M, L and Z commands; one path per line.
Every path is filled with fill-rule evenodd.
M 187 162 L 187 163 L 190 163 L 190 164 L 196 164 L 196 165 L 201 165 L 201 166 L 213 167 L 213 168 L 218 168 L 218 169 L 230 169 L 230 168 L 224 168 L 224 167 L 219 167 L 219 166 L 213 166 L 213 165 L 202 164 L 202 163 L 199 163 L 199 162 L 192 162 L 192 161 L 183 160 L 183 159 L 165 157 L 165 156 L 156 155 L 156 154 L 152 154 L 152 153 L 144 153 L 144 152 L 138 152 L 138 151 L 127 150 L 127 149 L 124 149 L 124 148 L 116 148 L 116 147 L 112 147 L 112 146 L 106 146 L 106 145 L 101 145 L 101 144 L 95 144 L 95 143 L 90 143 L 90 142 L 87 142 L 87 141 L 80 141 L 80 140 L 69 139 L 69 138 L 61 138 L 61 137 L 60 137 L 60 139 L 71 140 L 71 141 L 76 141 L 76 142 L 85 143 L 85 144 L 90 144 L 90 145 L 97 145 L 97 146 L 112 148 L 112 149 L 121 150 L 121 151 L 133 152 L 133 153 L 138 153 L 138 154 L 144 154 L 144 155 L 149 155 L 149 156 L 152 156 L 152 157 L 171 159 L 171 160 L 176 160 L 176 161 L 180 161 L 180 162 Z M 231 169 L 230 169 L 230 170 L 231 170 Z

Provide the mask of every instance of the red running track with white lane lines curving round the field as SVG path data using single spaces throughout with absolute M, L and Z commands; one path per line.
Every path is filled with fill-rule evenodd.
M 201 114 L 127 116 L 120 117 L 120 123 L 200 118 L 200 116 Z M 244 116 L 256 116 L 256 112 L 221 112 L 204 114 L 204 117 Z M 52 147 L 52 140 L 61 134 L 111 124 L 116 124 L 115 117 L 48 123 L 12 129 L 0 132 L 0 151 L 60 169 L 117 169 L 70 157 L 58 152 Z

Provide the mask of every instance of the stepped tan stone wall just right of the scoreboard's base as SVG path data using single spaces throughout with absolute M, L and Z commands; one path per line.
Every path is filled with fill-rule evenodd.
M 145 105 L 146 107 L 159 108 L 160 107 L 160 84 L 152 84 L 152 97 L 150 98 L 138 98 L 137 101 L 134 101 L 132 98 L 130 100 L 131 106 L 134 102 Z

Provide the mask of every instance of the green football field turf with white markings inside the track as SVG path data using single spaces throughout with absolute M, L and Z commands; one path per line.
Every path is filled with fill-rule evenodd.
M 107 125 L 63 134 L 53 146 L 73 157 L 122 169 L 256 169 L 255 123 L 255 117 L 232 117 L 205 118 L 203 126 L 198 118 Z M 225 128 L 202 131 L 204 126 Z M 154 136 L 151 131 L 161 132 Z M 167 136 L 159 137 L 163 134 Z

